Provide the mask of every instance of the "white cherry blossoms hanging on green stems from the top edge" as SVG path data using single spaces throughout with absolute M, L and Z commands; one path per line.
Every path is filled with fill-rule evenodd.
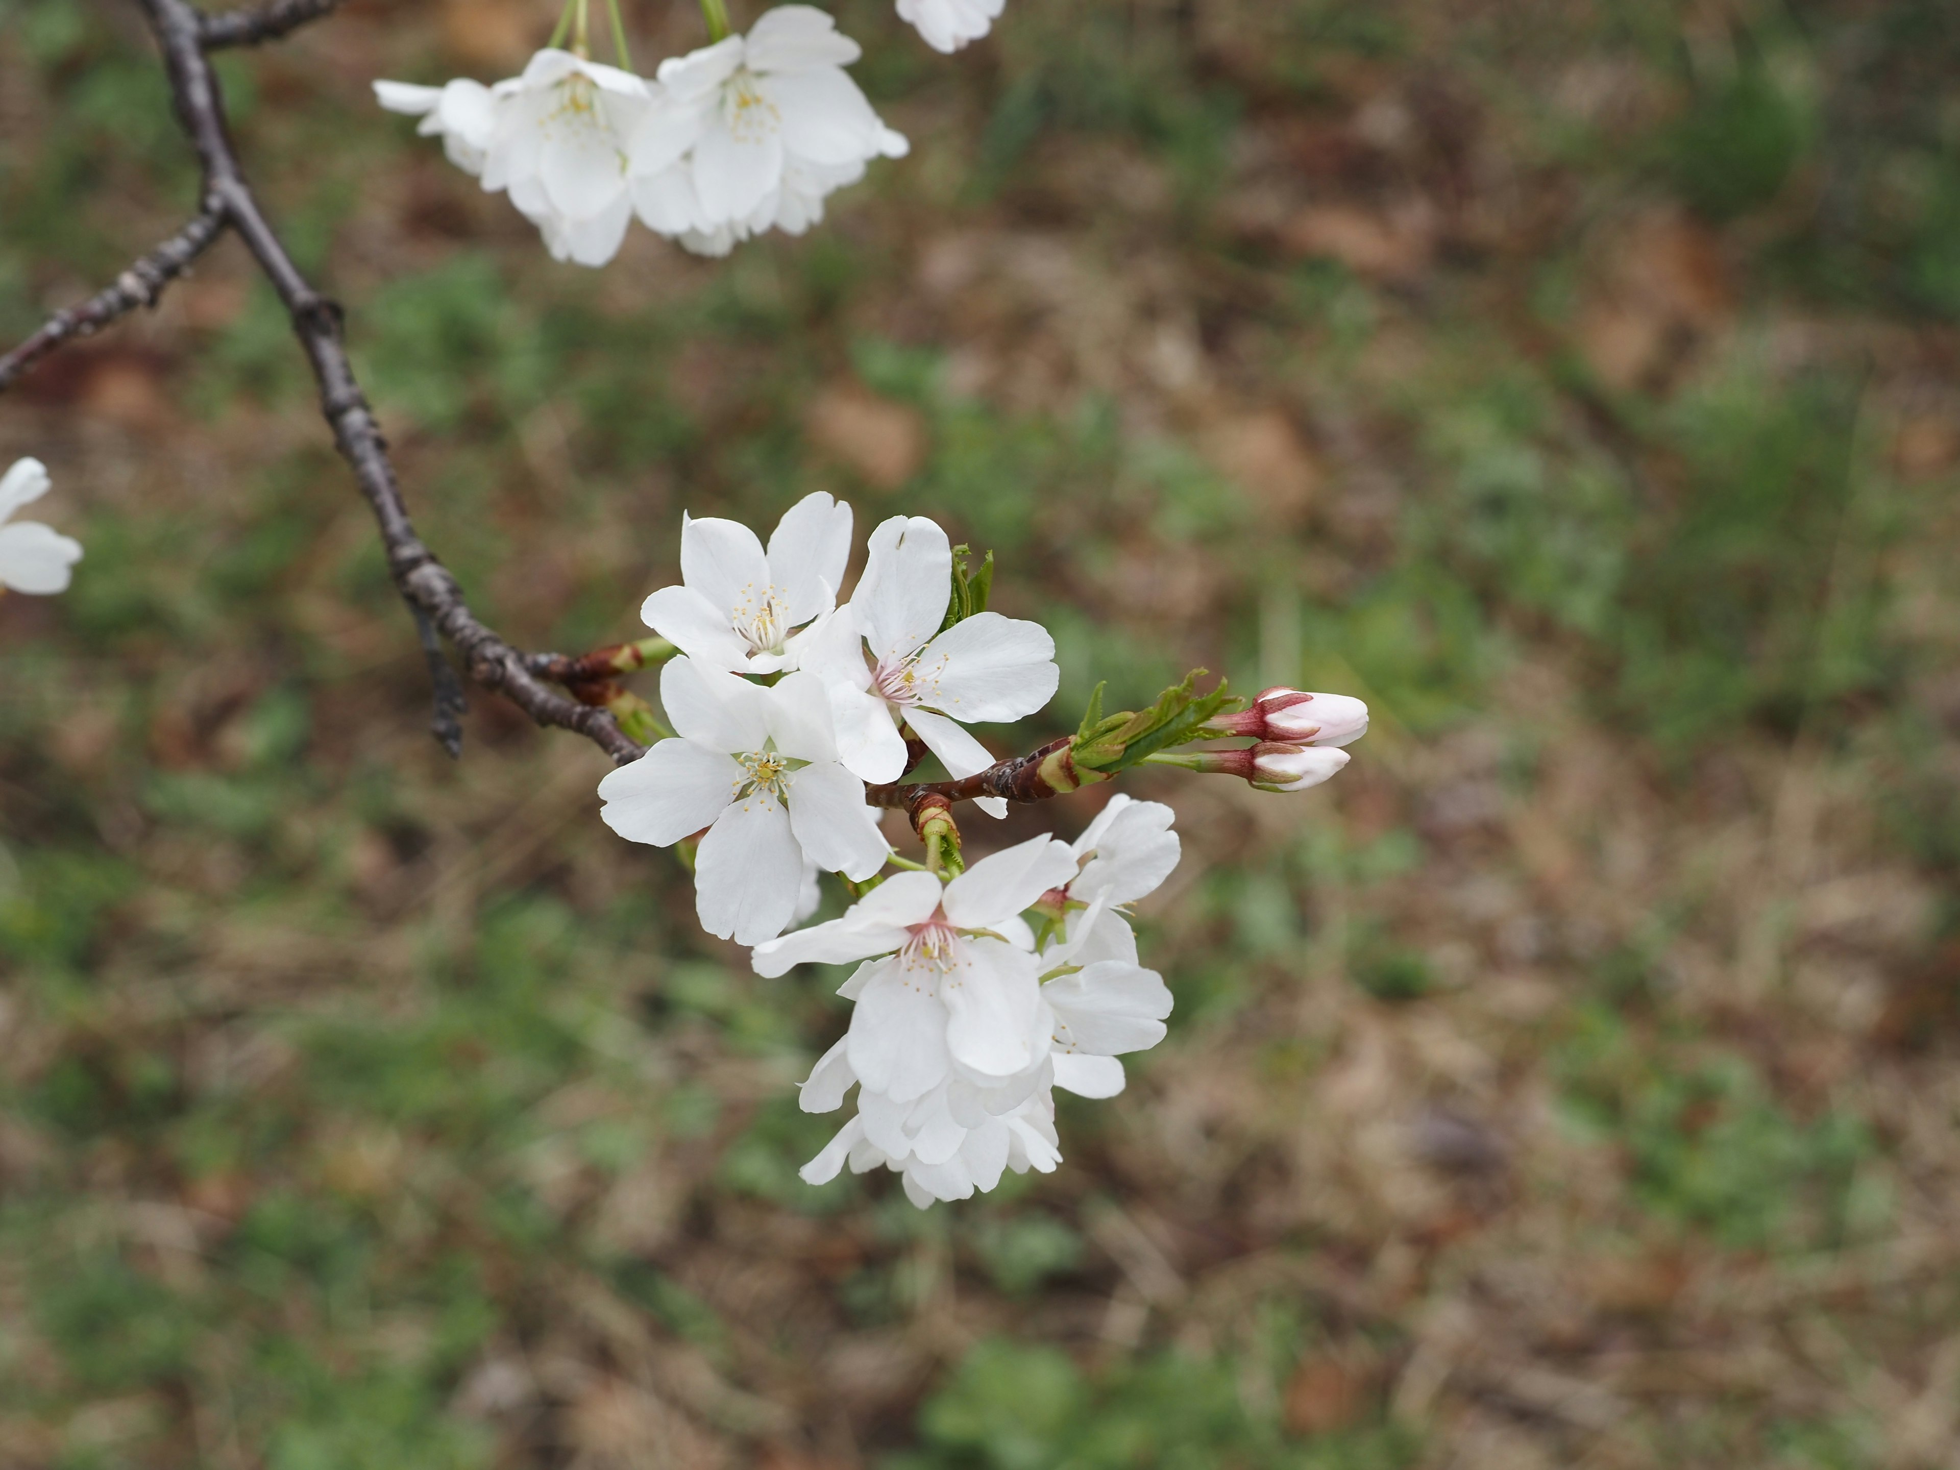
M 986 35 L 1002 4 L 900 0 L 898 10 L 953 51 Z M 508 192 L 559 261 L 606 265 L 633 218 L 700 255 L 768 229 L 800 235 L 872 159 L 909 151 L 845 73 L 862 49 L 813 6 L 776 6 L 747 35 L 721 35 L 719 0 L 708 0 L 713 45 L 668 57 L 651 78 L 627 69 L 617 14 L 621 65 L 586 55 L 586 8 L 566 10 L 580 22 L 572 49 L 555 37 L 494 86 L 374 82 L 378 102 L 421 118 L 451 163 Z

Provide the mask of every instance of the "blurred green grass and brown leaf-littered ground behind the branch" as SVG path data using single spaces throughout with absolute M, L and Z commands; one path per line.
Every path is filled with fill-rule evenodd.
M 0 600 L 0 1466 L 1960 1464 L 1960 12 L 835 10 L 913 155 L 604 272 L 368 94 L 551 0 L 223 59 L 425 537 L 578 651 L 682 510 L 931 514 L 1060 643 L 998 751 L 1205 664 L 1354 764 L 1125 780 L 1178 1009 L 1060 1172 L 809 1190 L 841 976 L 704 939 L 590 745 L 439 753 L 220 243 L 0 400 L 88 547 Z M 0 337 L 194 190 L 133 6 L 0 0 Z

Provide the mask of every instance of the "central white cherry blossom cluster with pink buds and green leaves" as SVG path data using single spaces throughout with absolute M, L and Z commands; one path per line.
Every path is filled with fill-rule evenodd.
M 1143 762 L 1299 790 L 1347 764 L 1339 747 L 1368 711 L 1268 690 L 1229 713 L 1223 688 L 1198 696 L 1186 680 L 1141 713 L 1103 715 L 1098 694 L 1074 739 L 998 762 L 966 725 L 1043 710 L 1058 684 L 1054 641 L 988 612 L 992 561 L 968 574 L 964 547 L 931 519 L 878 525 L 839 598 L 851 545 L 851 508 L 821 492 L 792 506 L 766 547 L 735 521 L 684 517 L 682 580 L 641 610 L 659 635 L 651 657 L 664 657 L 672 733 L 598 792 L 621 837 L 692 851 L 702 927 L 751 945 L 759 974 L 858 962 L 839 992 L 851 1027 L 802 1086 L 804 1109 L 819 1113 L 857 1086 L 857 1113 L 804 1178 L 882 1164 L 925 1207 L 992 1190 L 1007 1168 L 1053 1170 L 1054 1088 L 1115 1096 L 1117 1056 L 1162 1041 L 1170 1015 L 1127 906 L 1178 862 L 1172 809 L 1115 796 L 1074 843 L 1037 837 L 964 866 L 955 794 L 1005 815 L 998 790 L 1041 800 Z M 1164 749 L 1247 737 L 1256 743 Z M 892 786 L 927 755 L 953 776 L 945 790 Z M 1009 768 L 1019 784 L 972 780 Z M 925 862 L 892 849 L 880 802 L 909 811 Z M 784 933 L 821 907 L 821 872 L 853 902 Z

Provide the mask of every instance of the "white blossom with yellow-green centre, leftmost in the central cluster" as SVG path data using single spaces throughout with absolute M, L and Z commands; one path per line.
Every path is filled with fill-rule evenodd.
M 806 907 L 808 866 L 853 880 L 884 866 L 890 847 L 864 806 L 864 782 L 837 760 L 813 676 L 762 688 L 682 657 L 661 670 L 661 704 L 676 737 L 600 782 L 600 815 L 655 847 L 708 829 L 694 855 L 708 933 L 741 945 L 772 939 Z

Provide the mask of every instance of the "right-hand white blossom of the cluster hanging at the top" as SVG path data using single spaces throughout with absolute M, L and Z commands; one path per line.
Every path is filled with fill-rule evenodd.
M 704 255 L 821 220 L 866 163 L 909 151 L 845 74 L 860 55 L 825 12 L 776 6 L 747 35 L 662 61 L 631 145 L 639 218 Z

